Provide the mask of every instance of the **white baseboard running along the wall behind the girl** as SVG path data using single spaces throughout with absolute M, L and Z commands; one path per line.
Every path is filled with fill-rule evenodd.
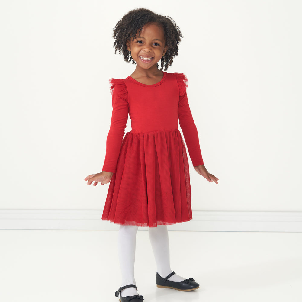
M 2 230 L 118 230 L 102 210 L 0 210 Z M 302 232 L 302 212 L 193 211 L 175 231 Z M 146 230 L 147 228 L 140 228 Z

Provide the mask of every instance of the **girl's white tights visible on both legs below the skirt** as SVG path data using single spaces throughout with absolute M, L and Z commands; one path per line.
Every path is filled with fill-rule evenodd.
M 121 286 L 135 284 L 134 260 L 135 260 L 135 240 L 138 226 L 120 226 L 118 231 L 118 256 L 122 274 Z M 157 272 L 165 278 L 172 273 L 170 268 L 169 236 L 167 226 L 157 226 L 149 228 L 149 239 L 153 249 L 153 254 L 157 266 Z M 180 282 L 185 278 L 173 275 L 171 281 Z M 126 288 L 122 292 L 122 297 L 137 295 L 135 288 Z

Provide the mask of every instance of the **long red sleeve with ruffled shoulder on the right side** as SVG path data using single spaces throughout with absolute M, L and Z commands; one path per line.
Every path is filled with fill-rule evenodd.
M 188 152 L 194 167 L 203 165 L 198 132 L 189 107 L 187 87 L 188 79 L 183 73 L 175 73 L 179 87 L 178 120 L 185 137 Z

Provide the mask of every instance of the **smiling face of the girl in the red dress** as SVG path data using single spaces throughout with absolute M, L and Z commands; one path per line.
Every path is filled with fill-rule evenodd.
M 156 63 L 168 49 L 165 42 L 164 30 L 160 25 L 145 24 L 134 40 L 127 41 L 127 49 L 137 64 L 136 69 L 157 69 Z

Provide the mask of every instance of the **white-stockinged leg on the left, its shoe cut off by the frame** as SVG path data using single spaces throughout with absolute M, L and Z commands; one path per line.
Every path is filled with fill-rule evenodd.
M 118 231 L 118 257 L 122 274 L 121 286 L 134 284 L 134 260 L 135 260 L 135 239 L 138 226 L 120 226 Z M 137 295 L 135 288 L 126 288 L 121 291 L 121 296 Z

